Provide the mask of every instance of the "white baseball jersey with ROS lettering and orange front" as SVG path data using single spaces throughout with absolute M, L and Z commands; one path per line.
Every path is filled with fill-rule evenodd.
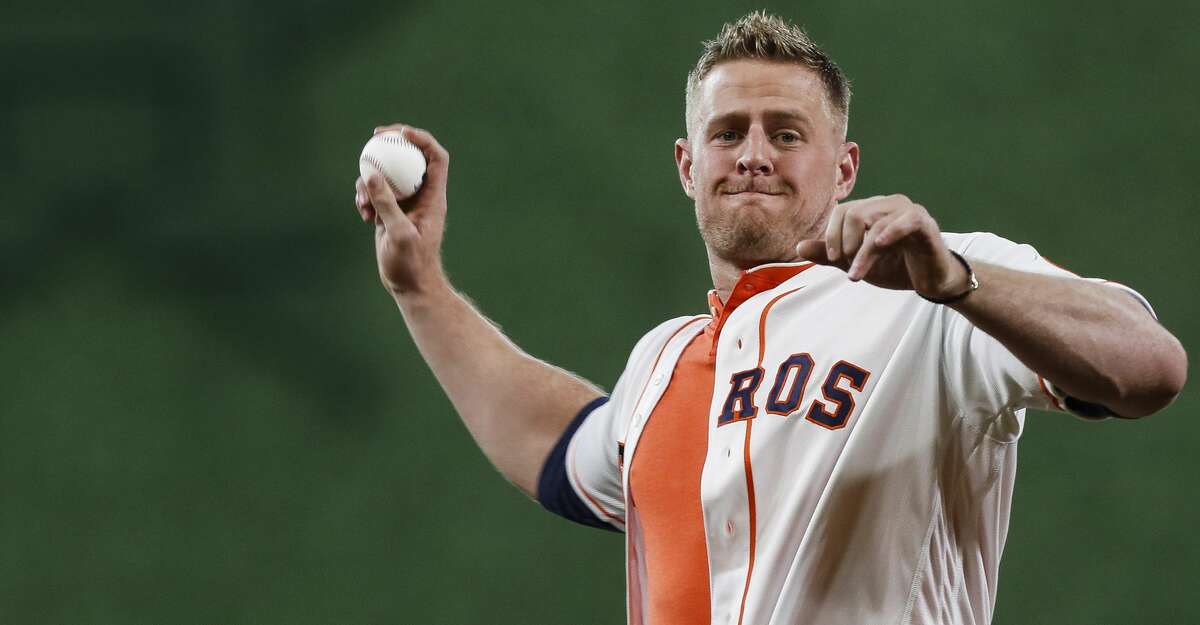
M 544 505 L 625 533 L 629 621 L 990 623 L 1025 408 L 1099 407 L 952 308 L 834 268 L 763 265 L 710 304 L 647 333 L 542 471 Z

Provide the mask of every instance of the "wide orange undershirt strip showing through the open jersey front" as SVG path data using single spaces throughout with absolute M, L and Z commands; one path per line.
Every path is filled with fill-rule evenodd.
M 630 515 L 640 522 L 646 623 L 708 625 L 710 595 L 700 477 L 708 453 L 713 327 L 688 343 L 629 459 Z

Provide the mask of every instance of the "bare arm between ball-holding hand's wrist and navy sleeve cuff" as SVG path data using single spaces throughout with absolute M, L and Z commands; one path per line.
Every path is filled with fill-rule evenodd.
M 449 284 L 396 302 L 442 387 L 492 463 L 527 494 L 571 417 L 602 395 L 509 341 Z

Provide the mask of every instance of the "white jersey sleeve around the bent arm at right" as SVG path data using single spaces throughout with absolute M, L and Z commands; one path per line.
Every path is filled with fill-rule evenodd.
M 968 262 L 979 260 L 1018 271 L 1028 271 L 1067 280 L 1087 280 L 1121 289 L 1140 301 L 1153 314 L 1150 304 L 1138 292 L 1115 282 L 1081 278 L 1044 257 L 1028 245 L 1020 245 L 988 233 L 944 234 L 950 250 Z M 984 287 L 986 288 L 986 287 Z M 1104 407 L 1068 397 L 1051 380 L 1030 371 L 1004 345 L 976 327 L 964 315 L 941 307 L 944 318 L 943 377 L 948 399 L 964 413 L 988 420 L 1012 415 L 1008 429 L 1020 432 L 1021 408 L 1060 410 L 1085 419 L 1114 416 Z

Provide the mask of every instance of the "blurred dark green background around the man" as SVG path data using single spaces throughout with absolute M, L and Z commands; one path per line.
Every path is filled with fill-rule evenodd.
M 624 620 L 619 535 L 487 464 L 378 284 L 371 128 L 454 155 L 445 259 L 611 386 L 709 287 L 672 142 L 749 8 L 110 1 L 0 12 L 0 621 Z M 1200 5 L 768 4 L 904 192 L 1140 289 L 1198 353 Z M 1200 621 L 1195 384 L 1032 414 L 996 624 Z

